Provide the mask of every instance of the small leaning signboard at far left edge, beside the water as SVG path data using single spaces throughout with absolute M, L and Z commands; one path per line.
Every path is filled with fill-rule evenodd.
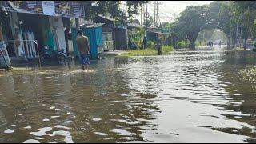
M 5 42 L 0 42 L 0 67 L 10 67 L 10 58 L 6 50 Z

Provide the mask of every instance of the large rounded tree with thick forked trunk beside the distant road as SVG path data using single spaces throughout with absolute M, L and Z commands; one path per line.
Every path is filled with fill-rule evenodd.
M 186 10 L 182 11 L 181 17 L 178 18 L 178 27 L 186 34 L 190 50 L 195 49 L 198 33 L 211 23 L 210 10 L 207 6 L 187 6 Z

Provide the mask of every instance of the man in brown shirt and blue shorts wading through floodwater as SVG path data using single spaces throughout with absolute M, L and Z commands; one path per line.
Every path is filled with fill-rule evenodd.
M 82 30 L 78 30 L 76 42 L 78 44 L 79 60 L 82 64 L 82 70 L 87 71 L 90 65 L 90 44 L 88 38 L 82 34 Z

